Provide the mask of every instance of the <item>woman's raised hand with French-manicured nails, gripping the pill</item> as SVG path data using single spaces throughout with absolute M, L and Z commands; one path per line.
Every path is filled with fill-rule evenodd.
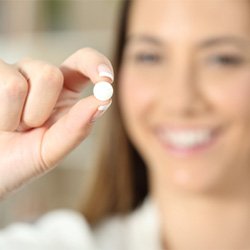
M 0 196 L 52 169 L 88 135 L 98 107 L 110 101 L 80 95 L 89 79 L 111 82 L 105 72 L 113 72 L 110 62 L 89 48 L 60 68 L 0 62 Z

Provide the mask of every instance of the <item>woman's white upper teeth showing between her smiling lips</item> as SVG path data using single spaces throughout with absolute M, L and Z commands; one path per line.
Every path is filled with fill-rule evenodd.
M 210 130 L 162 131 L 162 139 L 174 147 L 188 148 L 208 142 Z

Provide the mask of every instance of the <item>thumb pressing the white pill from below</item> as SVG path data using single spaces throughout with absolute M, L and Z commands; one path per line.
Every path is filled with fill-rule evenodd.
M 89 134 L 92 120 L 100 112 L 99 107 L 105 107 L 109 102 L 100 102 L 94 96 L 84 98 L 46 131 L 41 144 L 41 157 L 47 168 L 57 164 L 80 144 Z

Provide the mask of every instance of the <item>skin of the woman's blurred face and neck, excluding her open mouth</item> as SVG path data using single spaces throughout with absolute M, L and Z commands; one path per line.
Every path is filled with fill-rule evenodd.
M 120 104 L 168 249 L 250 249 L 249 8 L 245 0 L 132 4 Z M 204 128 L 217 131 L 211 143 L 185 152 L 156 132 Z

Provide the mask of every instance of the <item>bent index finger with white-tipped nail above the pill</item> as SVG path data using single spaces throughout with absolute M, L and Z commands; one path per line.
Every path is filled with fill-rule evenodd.
M 80 49 L 67 58 L 60 69 L 64 75 L 64 86 L 74 92 L 81 92 L 90 80 L 96 83 L 114 80 L 110 61 L 92 48 Z

